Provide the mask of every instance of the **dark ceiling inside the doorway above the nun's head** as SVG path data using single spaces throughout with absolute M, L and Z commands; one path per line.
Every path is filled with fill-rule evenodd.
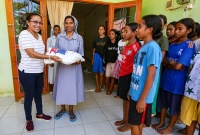
M 72 15 L 77 18 L 85 18 L 91 11 L 93 11 L 98 5 L 88 3 L 75 2 L 72 9 Z

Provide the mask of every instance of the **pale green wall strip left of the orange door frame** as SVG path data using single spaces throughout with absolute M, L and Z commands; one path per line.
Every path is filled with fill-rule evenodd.
M 14 94 L 5 0 L 0 4 L 0 97 Z

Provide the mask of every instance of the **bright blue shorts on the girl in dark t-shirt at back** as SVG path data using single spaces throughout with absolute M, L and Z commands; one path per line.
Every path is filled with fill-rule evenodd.
M 98 53 L 94 53 L 94 63 L 92 67 L 92 72 L 95 72 L 95 73 L 105 72 L 105 70 L 103 69 L 103 59 Z

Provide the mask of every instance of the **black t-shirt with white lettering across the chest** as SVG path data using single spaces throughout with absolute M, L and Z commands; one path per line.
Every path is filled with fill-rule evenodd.
M 117 51 L 118 51 L 118 41 L 115 41 L 115 43 L 108 41 L 106 43 L 104 66 L 106 66 L 107 63 L 115 63 L 118 57 Z

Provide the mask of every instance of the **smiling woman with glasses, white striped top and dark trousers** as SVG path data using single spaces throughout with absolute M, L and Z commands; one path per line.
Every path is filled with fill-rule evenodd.
M 43 59 L 52 59 L 57 62 L 61 60 L 57 56 L 44 55 L 45 46 L 42 41 L 42 36 L 38 34 L 43 25 L 42 17 L 37 13 L 30 13 L 26 18 L 26 23 L 28 28 L 23 30 L 19 35 L 21 61 L 18 72 L 25 93 L 24 111 L 26 115 L 26 130 L 31 132 L 34 130 L 32 121 L 33 99 L 37 110 L 36 119 L 51 120 L 51 116 L 43 114 L 42 110 L 42 89 L 44 85 Z

